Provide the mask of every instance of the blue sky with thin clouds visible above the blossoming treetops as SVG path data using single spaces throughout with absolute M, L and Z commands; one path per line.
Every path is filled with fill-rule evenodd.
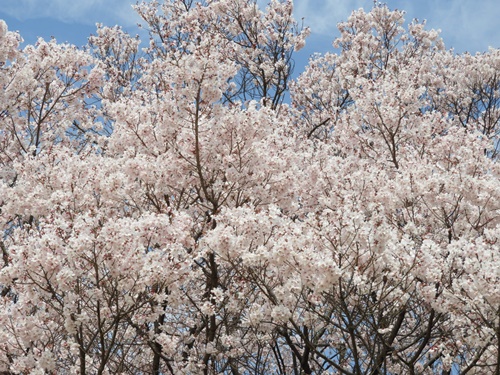
M 265 3 L 265 0 L 259 0 Z M 500 48 L 499 0 L 387 0 L 391 9 L 403 9 L 406 19 L 426 19 L 428 28 L 442 30 L 447 48 L 457 52 Z M 135 0 L 0 0 L 0 19 L 10 30 L 18 30 L 26 43 L 38 36 L 76 45 L 86 43 L 96 22 L 119 24 L 137 33 L 138 16 L 131 9 Z M 369 10 L 373 0 L 295 0 L 295 17 L 311 27 L 307 47 L 297 57 L 296 73 L 302 71 L 309 55 L 332 50 L 338 35 L 336 25 L 352 10 Z

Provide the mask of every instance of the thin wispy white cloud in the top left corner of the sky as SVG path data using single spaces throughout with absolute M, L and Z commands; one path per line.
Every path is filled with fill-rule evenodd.
M 47 17 L 67 23 L 130 26 L 139 20 L 132 4 L 134 0 L 16 0 L 2 4 L 2 12 L 22 21 Z

